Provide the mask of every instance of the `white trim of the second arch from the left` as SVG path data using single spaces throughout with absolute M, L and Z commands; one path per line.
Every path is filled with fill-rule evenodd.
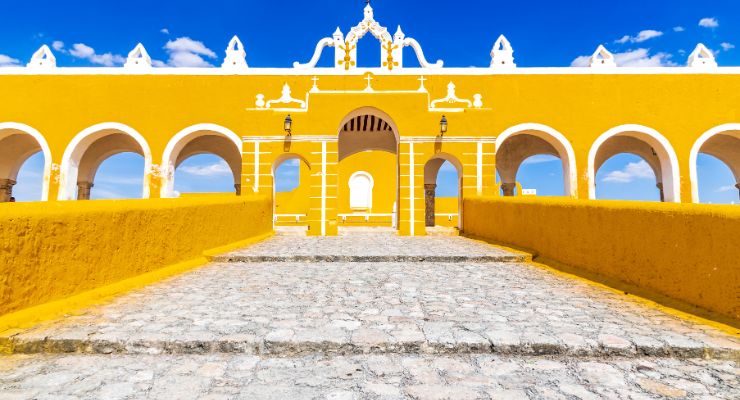
M 144 136 L 128 125 L 118 122 L 103 122 L 86 128 L 82 132 L 78 133 L 64 150 L 59 179 L 59 200 L 75 200 L 74 196 L 77 190 L 77 173 L 80 160 L 82 159 L 84 152 L 87 150 L 87 147 L 89 147 L 98 138 L 94 138 L 89 143 L 86 142 L 86 139 L 96 133 L 106 130 L 116 130 L 129 135 L 141 147 L 141 151 L 144 155 L 144 179 L 141 197 L 144 199 L 149 198 L 149 181 L 151 180 L 152 170 L 152 151 L 149 148 L 149 143 L 144 139 Z M 79 153 L 80 151 L 82 151 L 81 154 Z

